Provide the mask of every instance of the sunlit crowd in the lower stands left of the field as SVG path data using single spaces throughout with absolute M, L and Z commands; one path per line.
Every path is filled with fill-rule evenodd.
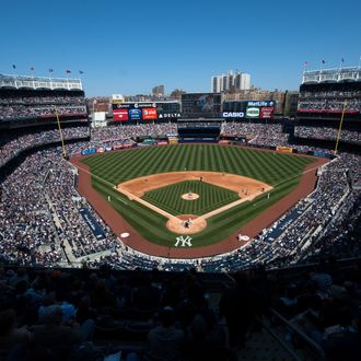
M 1 185 L 1 254 L 24 264 L 67 261 L 116 246 L 116 237 L 74 188 L 74 173 L 59 148 L 38 151 Z M 88 208 L 103 225 L 96 240 L 79 209 Z M 69 245 L 69 249 L 66 246 Z M 24 255 L 23 255 L 24 254 Z

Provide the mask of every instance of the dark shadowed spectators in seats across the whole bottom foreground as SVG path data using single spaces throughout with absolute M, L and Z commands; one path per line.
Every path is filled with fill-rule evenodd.
M 331 259 L 299 271 L 258 267 L 218 282 L 195 269 L 1 267 L 0 356 L 67 361 L 110 354 L 119 360 L 121 353 L 126 361 L 236 361 L 263 325 L 273 335 L 280 330 L 276 311 L 294 326 L 282 335 L 289 348 L 304 350 L 305 335 L 319 346 L 318 357 L 356 361 L 361 352 L 360 275 L 359 264 Z M 267 356 L 279 359 L 275 352 L 270 348 Z

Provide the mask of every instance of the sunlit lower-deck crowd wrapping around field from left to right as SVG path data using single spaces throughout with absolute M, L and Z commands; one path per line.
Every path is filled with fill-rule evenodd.
M 131 126 L 132 135 L 135 132 L 141 135 L 142 131 L 145 133 L 147 129 L 141 129 L 149 126 Z M 167 127 L 172 126 L 161 125 L 156 132 L 167 131 L 170 129 Z M 231 127 L 235 131 L 240 129 L 238 124 L 236 126 L 230 124 L 229 129 Z M 96 140 L 91 143 L 68 144 L 68 153 L 79 153 L 80 150 L 91 144 L 94 147 L 104 144 L 104 139 L 107 143 L 110 142 L 109 139 L 116 141 L 116 139 L 125 138 L 123 130 L 128 128 L 109 127 L 106 130 L 95 130 L 93 137 Z M 254 129 L 265 130 L 264 125 L 255 126 Z M 277 133 L 280 131 L 280 126 L 271 125 L 270 129 L 270 133 Z M 69 135 L 82 135 L 82 129 L 79 129 L 79 133 L 73 129 L 68 131 Z M 43 141 L 49 140 L 46 132 L 42 137 L 45 138 L 39 138 L 39 142 L 42 139 Z M 306 150 L 312 150 L 312 148 L 307 147 Z M 191 261 L 172 260 L 171 263 L 167 258 L 147 256 L 124 246 L 86 205 L 85 200 L 77 194 L 73 170 L 66 161 L 60 161 L 60 149 L 40 151 L 28 156 L 1 185 L 2 256 L 9 260 L 22 259 L 25 264 L 67 261 L 69 257 L 67 258 L 66 254 L 71 256 L 74 263 L 80 259 L 88 260 L 88 257 L 91 256 L 90 266 L 109 264 L 119 269 L 158 267 L 166 270 L 180 270 L 197 267 L 206 271 L 222 271 L 246 268 L 258 263 L 289 264 L 301 260 L 301 255 L 306 255 L 306 251 L 312 256 L 313 251 L 307 242 L 317 236 L 317 244 L 322 245 L 323 237 L 328 236 L 327 234 L 319 235 L 318 229 L 333 230 L 330 224 L 334 222 L 338 224 L 347 209 L 351 209 L 359 201 L 360 190 L 358 187 L 350 186 L 348 170 L 352 174 L 353 183 L 359 185 L 361 182 L 360 156 L 341 154 L 324 167 L 316 190 L 310 196 L 307 202 L 302 203 L 303 207 L 306 205 L 305 211 L 278 240 L 269 242 L 266 232 L 248 245 L 229 255 Z M 10 205 L 10 207 L 4 205 Z M 79 213 L 81 207 L 86 207 L 102 225 L 106 240 L 100 242 L 95 238 Z M 337 212 L 337 207 L 342 211 Z M 351 218 L 351 220 L 356 222 L 357 218 Z M 352 222 L 342 224 L 346 226 L 345 230 L 353 226 Z M 345 230 L 346 233 L 338 230 L 340 234 L 347 234 Z M 345 242 L 347 241 L 343 240 L 342 243 L 345 244 Z M 319 248 L 315 248 L 314 253 L 319 253 Z M 25 256 L 20 257 L 23 253 Z

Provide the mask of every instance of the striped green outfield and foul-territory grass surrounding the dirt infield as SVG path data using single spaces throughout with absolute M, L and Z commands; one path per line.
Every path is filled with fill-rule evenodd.
M 173 246 L 177 236 L 165 228 L 166 219 L 137 201 L 130 201 L 112 185 L 150 174 L 187 170 L 237 174 L 275 187 L 269 199 L 261 195 L 252 202 L 244 202 L 208 219 L 206 230 L 193 235 L 193 245 L 203 246 L 225 238 L 283 198 L 296 187 L 304 167 L 313 161 L 310 158 L 238 147 L 185 144 L 102 153 L 82 162 L 95 175 L 92 177 L 93 187 L 104 198 L 110 195 L 112 206 L 145 238 L 166 246 Z

